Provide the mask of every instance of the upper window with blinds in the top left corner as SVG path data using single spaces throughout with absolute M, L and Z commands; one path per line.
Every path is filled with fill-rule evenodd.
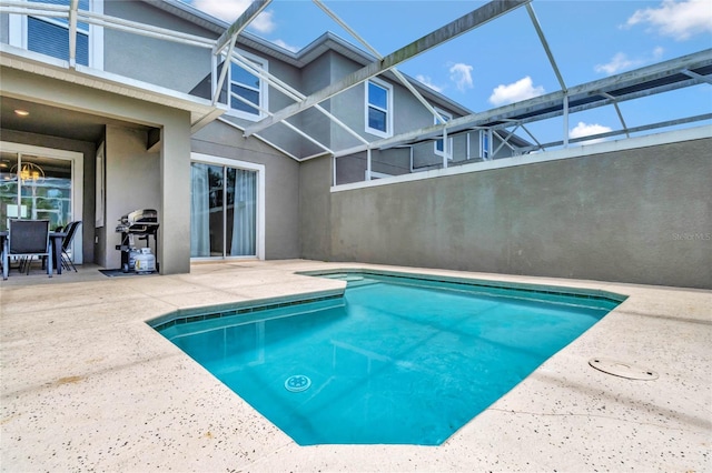
M 31 3 L 51 3 L 69 7 L 70 0 L 28 0 Z M 79 10 L 103 12 L 103 0 L 79 0 Z M 103 69 L 103 31 L 101 27 L 77 22 L 75 59 L 78 64 Z M 10 14 L 9 42 L 11 46 L 69 60 L 69 20 L 61 17 Z

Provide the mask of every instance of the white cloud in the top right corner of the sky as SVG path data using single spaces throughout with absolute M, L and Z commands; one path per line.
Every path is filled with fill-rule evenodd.
M 660 34 L 683 41 L 693 34 L 712 33 L 712 7 L 710 0 L 663 0 L 657 8 L 636 10 L 625 26 L 639 23 L 649 24 Z

